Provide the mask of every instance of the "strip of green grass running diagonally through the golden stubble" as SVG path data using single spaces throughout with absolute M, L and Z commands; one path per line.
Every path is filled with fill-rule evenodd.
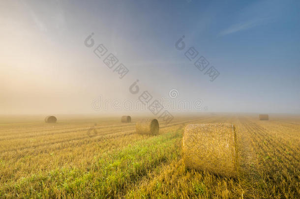
M 59 168 L 33 174 L 0 188 L 0 197 L 20 198 L 115 198 L 163 162 L 180 154 L 182 130 L 128 145 L 102 158 L 86 170 Z

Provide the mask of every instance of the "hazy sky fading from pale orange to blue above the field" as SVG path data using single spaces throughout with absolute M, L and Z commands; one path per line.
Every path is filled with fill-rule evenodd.
M 1 0 L 0 114 L 105 114 L 92 102 L 136 100 L 137 79 L 140 93 L 170 99 L 177 89 L 177 100 L 201 99 L 208 112 L 299 114 L 299 10 L 299 0 Z M 201 56 L 204 71 L 194 66 Z M 210 66 L 220 73 L 212 82 Z

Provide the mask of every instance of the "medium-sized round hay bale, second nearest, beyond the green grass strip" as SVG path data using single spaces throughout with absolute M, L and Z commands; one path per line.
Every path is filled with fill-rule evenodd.
M 135 129 L 138 134 L 157 135 L 159 131 L 159 124 L 157 119 L 136 122 Z

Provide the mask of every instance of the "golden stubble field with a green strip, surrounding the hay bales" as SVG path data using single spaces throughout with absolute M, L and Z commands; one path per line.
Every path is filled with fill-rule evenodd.
M 156 136 L 136 134 L 143 119 L 2 116 L 0 198 L 300 198 L 300 116 L 181 115 Z M 215 122 L 236 127 L 235 178 L 183 164 L 184 127 Z

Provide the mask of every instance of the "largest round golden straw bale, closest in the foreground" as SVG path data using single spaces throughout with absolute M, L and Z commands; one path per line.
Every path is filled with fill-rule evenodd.
M 225 176 L 237 174 L 236 133 L 232 124 L 190 124 L 183 133 L 183 162 L 189 169 Z

